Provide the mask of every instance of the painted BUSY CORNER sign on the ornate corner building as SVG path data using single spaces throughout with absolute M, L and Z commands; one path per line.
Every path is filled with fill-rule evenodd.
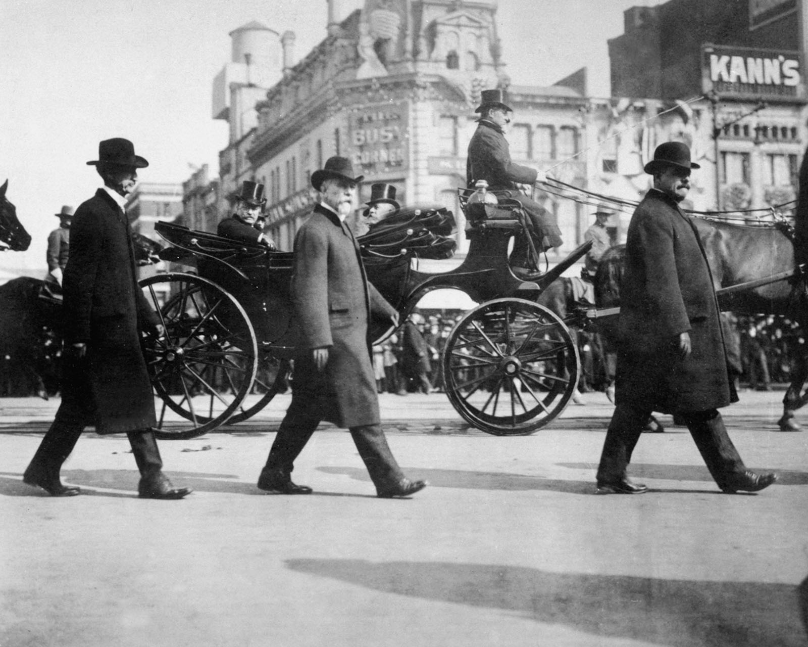
M 355 108 L 349 116 L 351 162 L 372 178 L 406 171 L 409 105 L 406 102 Z

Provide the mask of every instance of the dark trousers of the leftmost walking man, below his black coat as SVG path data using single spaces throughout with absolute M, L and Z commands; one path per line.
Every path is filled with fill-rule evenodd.
M 62 463 L 73 451 L 85 426 L 75 423 L 72 418 L 66 419 L 60 407 L 27 471 L 49 471 L 58 475 Z M 149 429 L 139 429 L 127 432 L 126 436 L 141 476 L 154 476 L 162 472 L 162 459 L 154 433 Z

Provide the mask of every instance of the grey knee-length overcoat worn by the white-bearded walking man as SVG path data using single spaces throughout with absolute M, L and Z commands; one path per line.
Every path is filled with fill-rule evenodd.
M 368 322 L 395 310 L 368 283 L 351 231 L 321 205 L 295 236 L 291 292 L 298 327 L 293 405 L 342 427 L 378 423 Z M 312 360 L 317 348 L 329 349 L 322 371 Z

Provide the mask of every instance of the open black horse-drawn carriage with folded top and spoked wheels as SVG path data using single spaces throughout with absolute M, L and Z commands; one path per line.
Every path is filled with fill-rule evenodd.
M 467 205 L 467 197 L 461 191 L 469 252 L 458 267 L 417 269 L 420 258 L 452 256 L 454 219 L 441 207 L 402 209 L 372 226 L 359 239 L 364 266 L 402 320 L 431 290 L 461 290 L 481 303 L 457 322 L 444 348 L 448 398 L 486 432 L 530 433 L 563 411 L 579 373 L 570 330 L 535 299 L 588 243 L 524 280 L 508 264 L 510 239 L 527 233 L 519 202 Z M 296 326 L 288 294 L 292 254 L 170 223 L 156 230 L 171 244 L 161 257 L 190 270 L 141 281 L 166 327 L 146 349 L 162 399 L 159 433 L 192 438 L 246 420 L 285 387 Z M 392 332 L 372 322 L 373 340 Z M 177 415 L 187 424 L 177 425 Z

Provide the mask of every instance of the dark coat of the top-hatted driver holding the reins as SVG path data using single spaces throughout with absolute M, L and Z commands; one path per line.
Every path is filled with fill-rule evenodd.
M 553 222 L 553 217 L 538 202 L 525 197 L 516 187 L 519 184 L 533 184 L 536 182 L 535 168 L 523 167 L 511 159 L 511 149 L 508 146 L 503 130 L 493 121 L 481 120 L 477 130 L 469 142 L 469 157 L 465 163 L 466 182 L 473 188 L 478 180 L 486 180 L 488 188 L 496 191 L 507 191 L 511 197 L 518 199 L 524 210 L 528 212 L 537 239 L 546 236 L 549 247 L 558 247 L 562 244 L 561 230 Z M 517 245 L 520 239 L 517 239 Z M 516 264 L 524 264 L 527 252 L 524 248 L 515 249 L 512 259 Z

